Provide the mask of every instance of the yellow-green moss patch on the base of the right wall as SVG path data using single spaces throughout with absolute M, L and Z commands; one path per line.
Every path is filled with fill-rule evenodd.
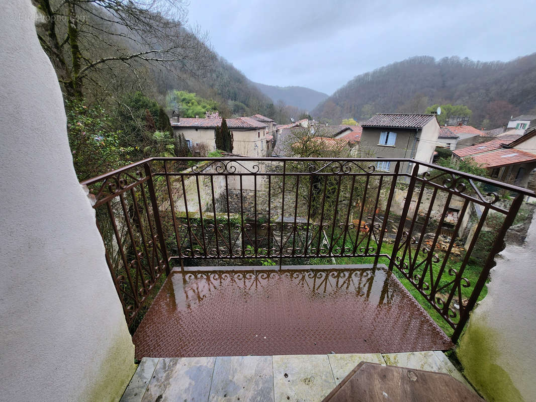
M 523 402 L 509 374 L 497 364 L 502 341 L 481 321 L 471 319 L 461 338 L 457 356 L 464 374 L 489 402 Z

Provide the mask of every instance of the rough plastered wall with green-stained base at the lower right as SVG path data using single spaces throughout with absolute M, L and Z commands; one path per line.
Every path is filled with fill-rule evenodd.
M 509 245 L 471 314 L 458 359 L 488 401 L 536 400 L 536 218 L 523 247 Z

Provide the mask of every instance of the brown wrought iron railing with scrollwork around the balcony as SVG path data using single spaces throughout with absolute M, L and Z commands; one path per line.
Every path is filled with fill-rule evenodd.
M 398 270 L 454 341 L 534 196 L 410 159 L 150 158 L 81 184 L 129 325 L 173 264 L 346 258 Z

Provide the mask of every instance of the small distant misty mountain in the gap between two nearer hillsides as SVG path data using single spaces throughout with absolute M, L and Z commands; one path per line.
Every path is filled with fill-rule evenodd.
M 274 86 L 259 83 L 253 83 L 260 92 L 268 96 L 274 103 L 279 100 L 285 102 L 285 105 L 295 106 L 297 108 L 310 111 L 312 108 L 322 102 L 329 95 L 305 88 L 302 86 Z

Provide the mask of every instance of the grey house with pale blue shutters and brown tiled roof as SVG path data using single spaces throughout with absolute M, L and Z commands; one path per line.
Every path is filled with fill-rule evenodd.
M 440 134 L 434 114 L 378 113 L 362 123 L 360 148 L 377 158 L 411 158 L 431 163 Z M 378 162 L 377 170 L 393 172 L 394 163 Z M 403 163 L 401 172 L 411 170 Z M 421 167 L 423 171 L 426 167 Z

